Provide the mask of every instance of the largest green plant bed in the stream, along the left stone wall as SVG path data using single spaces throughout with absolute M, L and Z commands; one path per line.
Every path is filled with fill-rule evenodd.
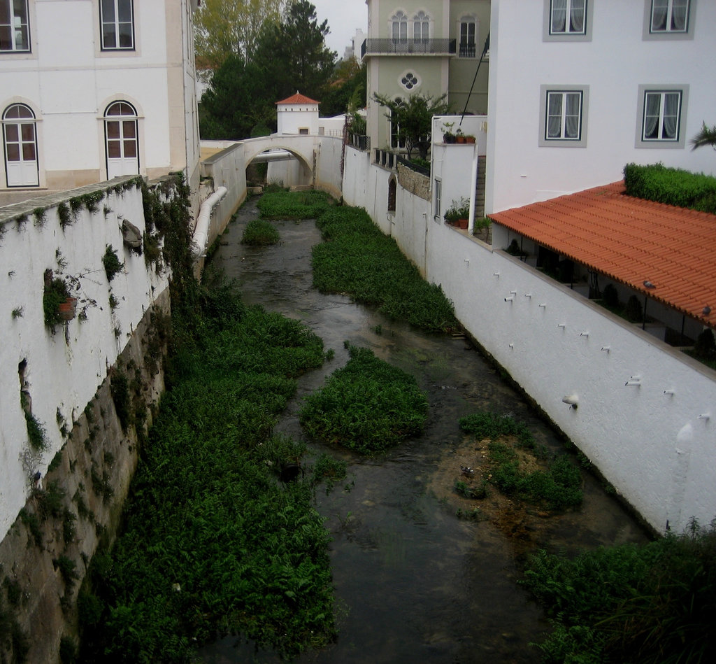
M 198 317 L 173 312 L 185 318 L 175 320 L 171 388 L 142 449 L 125 531 L 111 558 L 95 556 L 83 588 L 95 607 L 89 659 L 186 662 L 225 633 L 292 657 L 334 636 L 314 481 L 281 483 L 281 464 L 304 450 L 270 437 L 323 344 L 229 289 L 193 299 Z

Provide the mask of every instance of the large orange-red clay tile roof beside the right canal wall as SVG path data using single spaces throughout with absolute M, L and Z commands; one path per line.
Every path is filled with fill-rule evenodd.
M 716 215 L 627 196 L 624 183 L 490 214 L 541 246 L 716 326 Z M 647 289 L 644 281 L 654 284 Z M 704 314 L 704 307 L 713 312 Z

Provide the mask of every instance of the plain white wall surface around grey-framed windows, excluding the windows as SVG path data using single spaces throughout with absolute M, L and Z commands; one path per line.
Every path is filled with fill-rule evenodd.
M 497 212 L 622 178 L 630 162 L 716 173 L 688 140 L 716 108 L 716 2 L 695 5 L 692 39 L 644 40 L 646 0 L 594 4 L 591 41 L 543 41 L 544 0 L 492 0 L 485 209 Z M 697 63 L 697 64 L 696 64 Z M 637 148 L 639 85 L 689 85 L 683 148 Z M 541 85 L 588 85 L 586 147 L 540 147 Z

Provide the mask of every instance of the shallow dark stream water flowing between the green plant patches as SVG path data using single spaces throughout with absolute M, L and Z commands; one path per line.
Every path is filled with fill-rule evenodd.
M 560 446 L 557 436 L 469 343 L 427 335 L 311 287 L 311 246 L 320 241 L 311 221 L 279 221 L 281 244 L 240 244 L 256 218 L 255 203 L 239 211 L 213 256 L 237 280 L 247 304 L 301 319 L 335 357 L 299 380 L 276 430 L 303 439 L 297 418 L 301 399 L 344 365 L 343 342 L 371 348 L 414 375 L 428 394 L 429 420 L 420 438 L 377 458 L 331 448 L 348 463 L 348 476 L 317 507 L 332 533 L 332 571 L 339 637 L 299 662 L 318 663 L 531 663 L 529 643 L 549 625 L 516 580 L 524 557 L 536 549 L 575 551 L 600 544 L 644 542 L 646 534 L 621 505 L 584 473 L 579 511 L 550 516 L 493 496 L 460 498 L 453 486 L 460 466 L 477 466 L 480 450 L 465 441 L 458 419 L 478 410 L 513 413 L 538 442 Z M 378 327 L 379 326 L 379 327 Z M 325 448 L 309 442 L 314 453 Z M 476 471 L 477 473 L 478 471 Z M 470 514 L 473 518 L 466 518 Z M 274 653 L 227 637 L 208 645 L 201 661 L 212 664 L 275 662 Z

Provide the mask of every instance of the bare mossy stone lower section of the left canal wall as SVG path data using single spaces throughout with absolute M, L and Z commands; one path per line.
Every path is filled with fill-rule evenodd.
M 27 638 L 29 663 L 59 662 L 61 640 L 77 643 L 79 587 L 97 547 L 114 542 L 163 392 L 169 314 L 167 289 L 137 325 L 0 543 L 0 610 Z

